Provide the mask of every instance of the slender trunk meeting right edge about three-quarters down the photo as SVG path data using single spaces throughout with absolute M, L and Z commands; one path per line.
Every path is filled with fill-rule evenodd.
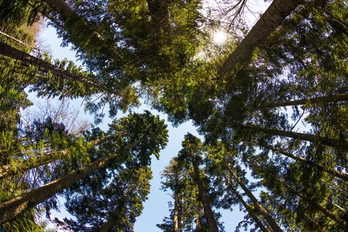
M 271 151 L 278 152 L 279 154 L 282 154 L 283 156 L 287 156 L 287 157 L 292 158 L 294 160 L 297 160 L 299 162 L 306 163 L 306 165 L 316 167 L 317 169 L 321 170 L 322 172 L 327 172 L 327 173 L 332 174 L 333 176 L 336 176 L 342 180 L 348 181 L 348 174 L 345 174 L 343 172 L 338 172 L 335 169 L 330 169 L 329 167 L 324 167 L 322 165 L 315 163 L 314 161 L 307 160 L 306 158 L 302 158 L 300 156 L 295 156 L 287 151 L 277 149 L 276 147 L 271 147 L 267 144 L 260 144 L 258 142 L 256 144 L 258 144 L 258 146 L 260 146 L 260 147 L 264 147 L 264 148 L 269 149 Z

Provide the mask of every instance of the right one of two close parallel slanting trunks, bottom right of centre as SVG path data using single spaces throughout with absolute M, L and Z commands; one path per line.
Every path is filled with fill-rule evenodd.
M 244 192 L 249 197 L 249 199 L 251 199 L 251 201 L 253 201 L 255 208 L 257 208 L 260 211 L 260 213 L 262 214 L 264 219 L 267 221 L 267 223 L 269 224 L 271 229 L 273 231 L 276 231 L 276 232 L 283 232 L 283 230 L 280 229 L 280 227 L 278 226 L 278 224 L 276 224 L 276 222 L 271 217 L 271 215 L 269 215 L 267 210 L 262 206 L 262 204 L 260 204 L 258 199 L 256 199 L 256 197 L 254 197 L 253 193 L 250 192 L 250 190 L 248 190 L 248 188 L 246 188 L 246 185 L 244 185 L 243 181 L 241 179 L 239 179 L 239 177 L 235 174 L 235 172 L 232 171 L 232 169 L 230 169 L 230 167 L 227 167 L 227 165 L 225 165 L 225 167 L 226 167 L 226 169 L 228 169 L 228 172 L 231 174 L 232 178 L 235 179 L 235 181 L 237 181 L 239 186 L 241 186 L 242 190 L 244 190 Z

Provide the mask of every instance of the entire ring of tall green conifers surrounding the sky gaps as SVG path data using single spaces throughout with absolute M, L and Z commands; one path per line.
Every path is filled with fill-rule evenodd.
M 83 98 L 95 124 L 105 106 L 116 117 L 142 100 L 197 126 L 204 142 L 185 135 L 162 173 L 173 196 L 163 231 L 224 231 L 219 209 L 235 205 L 245 212 L 237 230 L 346 231 L 347 3 L 274 0 L 250 31 L 247 3 L 224 3 L 233 24 L 218 46 L 209 31 L 226 22 L 199 0 L 1 0 L 1 229 L 45 231 L 38 215 L 61 196 L 75 218 L 55 219 L 62 228 L 133 231 L 151 155 L 168 140 L 148 111 L 107 131 L 72 133 L 55 115 L 24 123 L 30 91 Z M 84 68 L 40 50 L 42 19 Z

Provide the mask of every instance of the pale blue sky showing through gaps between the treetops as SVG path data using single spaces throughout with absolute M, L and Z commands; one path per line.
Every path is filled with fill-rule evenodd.
M 263 2 L 263 1 L 262 1 Z M 266 8 L 266 5 L 256 6 L 256 8 L 262 7 Z M 253 19 L 254 18 L 254 19 Z M 255 17 L 251 15 L 251 21 L 255 21 Z M 251 22 L 253 24 L 254 22 Z M 39 35 L 39 40 L 41 44 L 44 44 L 46 49 L 50 51 L 53 58 L 63 59 L 68 58 L 69 60 L 76 60 L 74 57 L 74 52 L 70 51 L 70 47 L 61 47 L 61 39 L 57 38 L 56 31 L 52 27 L 47 27 L 45 25 L 42 26 L 42 30 Z M 221 43 L 221 38 L 218 38 L 218 43 Z M 81 63 L 77 63 L 81 65 Z M 29 94 L 32 101 L 38 101 L 35 99 L 34 94 Z M 76 100 L 73 102 L 73 106 L 75 108 L 81 108 L 81 119 L 87 119 L 90 122 L 93 122 L 93 117 L 84 113 L 83 106 L 81 106 L 81 100 Z M 150 109 L 148 106 L 142 105 L 139 109 L 134 111 L 143 112 L 143 110 L 148 109 L 153 114 L 159 115 L 161 119 L 166 119 L 166 115 L 158 113 L 156 110 Z M 107 129 L 107 124 L 111 122 L 111 119 L 105 118 L 102 124 L 98 125 L 102 129 Z M 137 218 L 136 223 L 134 225 L 134 231 L 136 232 L 148 232 L 148 231 L 161 231 L 157 228 L 156 224 L 161 224 L 162 219 L 164 217 L 168 217 L 168 201 L 171 201 L 171 196 L 168 192 L 163 192 L 160 190 L 161 188 L 161 178 L 160 172 L 168 165 L 169 160 L 173 158 L 173 156 L 177 155 L 177 152 L 182 148 L 181 142 L 184 139 L 184 135 L 192 133 L 199 137 L 196 129 L 192 126 L 190 122 L 186 122 L 181 124 L 177 128 L 171 126 L 171 123 L 166 121 L 168 125 L 169 131 L 169 142 L 166 149 L 161 151 L 161 156 L 159 160 L 155 158 L 152 159 L 152 174 L 153 179 L 150 181 L 151 190 L 148 195 L 148 200 L 143 204 L 143 213 L 140 217 Z M 200 137 L 201 138 L 201 137 Z M 202 139 L 202 138 L 201 138 Z M 61 205 L 63 206 L 63 201 L 61 201 Z M 239 206 L 235 206 L 233 208 L 233 212 L 229 210 L 222 210 L 221 213 L 223 217 L 221 217 L 221 222 L 224 222 L 224 226 L 226 231 L 234 231 L 237 224 L 242 221 L 244 217 L 244 213 L 239 211 Z M 52 217 L 69 217 L 68 212 L 66 210 L 61 209 L 61 213 L 54 212 Z

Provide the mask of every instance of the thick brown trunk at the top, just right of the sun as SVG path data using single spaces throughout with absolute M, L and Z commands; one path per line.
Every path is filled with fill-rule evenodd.
M 251 59 L 255 47 L 266 40 L 302 2 L 301 0 L 274 0 L 235 51 L 228 56 L 219 73 L 226 74 L 226 72 L 235 69 L 237 65 L 243 66 L 247 63 Z

